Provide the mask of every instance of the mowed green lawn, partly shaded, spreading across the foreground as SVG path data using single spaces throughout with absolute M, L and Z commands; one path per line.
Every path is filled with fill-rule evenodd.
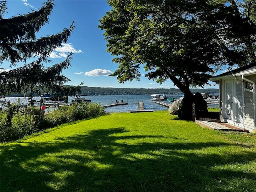
M 1 192 L 255 192 L 256 134 L 115 113 L 0 145 Z

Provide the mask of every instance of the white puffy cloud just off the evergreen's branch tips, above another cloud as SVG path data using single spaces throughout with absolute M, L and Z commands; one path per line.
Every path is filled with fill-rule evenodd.
M 70 43 L 63 43 L 50 53 L 50 58 L 66 58 L 68 53 L 82 53 L 82 50 L 76 50 Z

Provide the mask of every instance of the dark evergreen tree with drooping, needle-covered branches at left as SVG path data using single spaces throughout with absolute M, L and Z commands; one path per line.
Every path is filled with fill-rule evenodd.
M 38 11 L 4 18 L 7 2 L 0 1 L 0 65 L 9 62 L 12 68 L 0 72 L 0 95 L 26 93 L 28 90 L 31 96 L 42 90 L 65 96 L 79 92 L 79 86 L 62 86 L 70 81 L 61 73 L 70 66 L 72 53 L 63 62 L 46 67 L 51 62 L 48 59 L 50 52 L 68 41 L 75 28 L 74 22 L 58 34 L 36 38 L 36 33 L 48 22 L 53 7 L 53 0 L 48 0 Z M 26 63 L 28 59 L 34 61 Z M 24 65 L 17 67 L 19 63 Z

